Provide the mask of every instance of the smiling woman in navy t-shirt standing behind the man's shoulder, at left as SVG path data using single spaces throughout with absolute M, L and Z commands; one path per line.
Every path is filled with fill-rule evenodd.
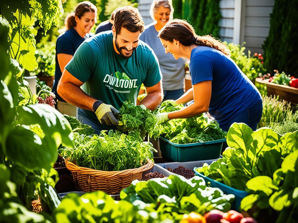
M 62 114 L 77 117 L 77 107 L 63 100 L 57 93 L 58 81 L 66 64 L 72 59 L 77 48 L 90 37 L 89 32 L 96 21 L 97 8 L 89 1 L 77 4 L 75 12 L 69 13 L 64 21 L 66 30 L 56 41 L 56 70 L 53 92 L 56 95 L 57 109 Z

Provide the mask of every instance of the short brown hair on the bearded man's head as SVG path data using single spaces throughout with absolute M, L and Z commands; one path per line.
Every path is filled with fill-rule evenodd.
M 140 33 L 142 33 L 144 31 L 145 24 L 138 9 L 131 6 L 125 6 L 117 9 L 115 13 L 114 26 L 116 34 L 120 34 L 122 27 L 126 28 L 130 32 L 140 31 Z

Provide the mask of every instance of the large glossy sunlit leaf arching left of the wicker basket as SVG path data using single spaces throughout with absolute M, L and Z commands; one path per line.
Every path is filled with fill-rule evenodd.
M 33 104 L 17 108 L 18 124 L 38 124 L 44 132 L 44 140 L 55 141 L 56 150 L 62 143 L 66 147 L 73 148 L 72 128 L 66 118 L 53 107 L 46 104 Z

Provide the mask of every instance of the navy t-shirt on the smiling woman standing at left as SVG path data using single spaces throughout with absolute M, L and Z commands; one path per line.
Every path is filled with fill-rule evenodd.
M 84 40 L 88 39 L 90 34 L 86 34 L 85 38 L 82 38 L 74 28 L 61 33 L 56 41 L 56 68 L 55 68 L 55 81 L 52 92 L 56 95 L 56 100 L 65 102 L 57 93 L 58 81 L 62 76 L 62 72 L 58 63 L 57 54 L 69 54 L 74 55 L 77 48 L 83 43 Z

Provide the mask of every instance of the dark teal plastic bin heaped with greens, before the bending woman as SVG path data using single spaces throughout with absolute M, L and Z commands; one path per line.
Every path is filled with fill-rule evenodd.
M 189 162 L 217 159 L 221 155 L 221 147 L 226 139 L 189 144 L 177 144 L 159 136 L 160 151 L 174 162 Z

